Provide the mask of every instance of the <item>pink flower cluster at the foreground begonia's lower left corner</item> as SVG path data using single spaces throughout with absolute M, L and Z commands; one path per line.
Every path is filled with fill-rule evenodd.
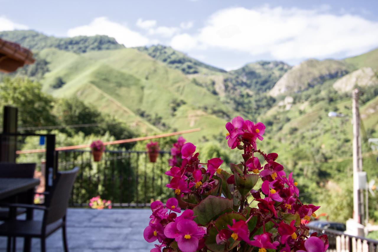
M 144 229 L 143 236 L 148 242 L 158 240 L 161 243 L 155 245 L 151 252 L 161 251 L 161 248 L 168 244 L 171 247 L 178 247 L 181 251 L 194 252 L 204 247 L 203 236 L 207 229 L 193 221 L 193 210 L 187 209 L 177 216 L 177 213 L 181 213 L 181 209 L 175 198 L 169 198 L 165 206 L 161 201 L 155 201 L 151 204 L 151 210 L 151 220 L 149 226 Z

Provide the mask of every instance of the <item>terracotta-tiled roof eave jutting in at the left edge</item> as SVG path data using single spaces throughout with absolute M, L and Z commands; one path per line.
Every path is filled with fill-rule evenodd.
M 33 64 L 33 53 L 17 43 L 0 39 L 0 71 L 10 73 L 25 64 Z

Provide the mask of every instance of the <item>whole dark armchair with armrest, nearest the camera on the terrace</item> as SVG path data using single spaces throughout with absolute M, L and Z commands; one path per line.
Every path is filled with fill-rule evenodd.
M 9 204 L 8 207 L 25 207 L 43 210 L 42 221 L 9 220 L 0 225 L 0 236 L 40 238 L 41 251 L 46 251 L 46 238 L 62 228 L 64 251 L 68 252 L 66 236 L 66 213 L 78 167 L 67 172 L 58 172 L 45 205 Z M 8 248 L 9 251 L 10 248 Z

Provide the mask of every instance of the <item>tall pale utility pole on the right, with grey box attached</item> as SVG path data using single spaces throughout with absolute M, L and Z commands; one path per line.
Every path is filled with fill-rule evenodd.
M 361 136 L 359 127 L 359 91 L 352 91 L 353 114 L 353 220 L 355 223 L 363 223 L 363 189 L 360 187 L 359 172 L 362 172 Z M 358 232 L 360 233 L 360 232 Z

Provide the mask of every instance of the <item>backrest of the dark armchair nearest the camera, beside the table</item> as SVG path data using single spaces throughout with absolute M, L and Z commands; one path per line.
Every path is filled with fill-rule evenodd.
M 53 223 L 66 215 L 68 201 L 78 171 L 79 167 L 75 167 L 70 171 L 57 173 L 53 187 L 45 201 L 45 206 L 48 207 L 43 219 L 45 224 Z

